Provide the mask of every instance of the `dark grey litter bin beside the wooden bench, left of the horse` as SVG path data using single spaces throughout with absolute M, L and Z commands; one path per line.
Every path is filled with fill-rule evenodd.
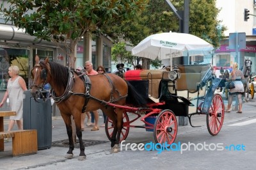
M 52 144 L 52 108 L 51 100 L 34 100 L 31 90 L 24 91 L 23 128 L 37 130 L 38 150 L 51 148 Z

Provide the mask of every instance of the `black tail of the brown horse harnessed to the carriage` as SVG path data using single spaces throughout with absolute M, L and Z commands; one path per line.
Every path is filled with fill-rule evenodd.
M 128 86 L 128 95 L 126 98 L 126 104 L 134 105 L 135 107 L 147 107 L 147 100 L 138 93 L 138 91 L 132 86 L 132 84 L 126 81 Z

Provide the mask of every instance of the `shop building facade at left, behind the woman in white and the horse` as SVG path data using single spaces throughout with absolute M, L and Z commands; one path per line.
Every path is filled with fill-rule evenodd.
M 0 4 L 3 1 L 0 0 Z M 6 3 L 6 1 L 5 1 Z M 3 15 L 0 13 L 0 98 L 6 91 L 7 82 L 10 78 L 8 68 L 12 65 L 19 66 L 20 76 L 26 81 L 29 89 L 31 86 L 30 72 L 35 65 L 35 54 L 40 59 L 49 57 L 50 61 L 68 65 L 68 56 L 61 50 L 61 44 L 35 40 L 35 36 L 30 36 L 24 30 L 18 29 L 11 24 L 5 24 Z M 111 47 L 113 41 L 108 36 L 86 36 L 77 44 L 76 66 L 84 66 L 85 61 L 92 61 L 93 67 L 98 65 L 106 67 L 111 72 Z M 61 47 L 61 48 L 60 48 Z M 0 110 L 8 110 L 8 106 Z

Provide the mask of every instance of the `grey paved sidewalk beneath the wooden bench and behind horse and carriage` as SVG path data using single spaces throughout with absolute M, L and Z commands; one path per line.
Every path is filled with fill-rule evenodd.
M 225 100 L 225 104 L 227 104 L 225 96 L 222 96 L 223 100 Z M 256 118 L 255 101 L 256 99 L 250 99 L 250 102 L 243 104 L 243 114 L 237 114 L 236 111 L 225 113 L 224 124 L 227 125 L 235 121 L 246 120 L 248 118 Z M 132 117 L 134 115 L 129 114 L 129 116 Z M 8 120 L 4 120 L 4 129 L 8 127 L 8 122 Z M 101 125 L 102 122 L 103 117 L 102 112 L 100 112 L 99 125 Z M 192 117 L 192 123 L 195 126 L 202 125 L 202 127 L 193 128 L 190 125 L 179 126 L 177 136 L 200 129 L 207 130 L 206 118 L 204 115 Z M 54 125 L 54 128 L 52 128 L 52 144 L 61 143 L 60 141 L 68 139 L 65 123 L 61 117 L 53 117 L 52 125 Z M 143 122 L 138 120 L 132 123 L 132 125 L 143 125 Z M 17 125 L 15 124 L 15 128 L 13 130 L 16 128 Z M 95 154 L 108 155 L 110 152 L 110 142 L 106 136 L 104 127 L 100 127 L 100 130 L 97 131 L 91 131 L 91 128 L 92 127 L 85 127 L 83 131 L 83 140 L 85 140 L 86 144 L 85 154 L 87 158 L 93 157 Z M 154 141 L 153 134 L 153 132 L 146 132 L 144 128 L 130 128 L 129 135 L 125 141 L 127 141 L 127 143 L 145 143 L 148 141 Z M 77 157 L 79 155 L 79 145 L 77 144 L 75 147 L 78 148 L 74 149 L 73 159 L 78 161 Z M 4 148 L 5 150 L 0 152 L 0 169 L 29 169 L 38 166 L 45 166 L 47 164 L 54 164 L 56 162 L 65 162 L 67 160 L 65 158 L 65 154 L 68 151 L 67 144 L 65 146 L 63 144 L 63 147 L 51 146 L 51 148 L 46 150 L 38 150 L 36 154 L 19 157 L 12 157 L 12 139 L 10 139 L 8 143 L 4 143 Z

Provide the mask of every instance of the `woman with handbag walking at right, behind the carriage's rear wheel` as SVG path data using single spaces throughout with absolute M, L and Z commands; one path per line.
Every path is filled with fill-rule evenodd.
M 228 106 L 227 106 L 227 110 L 225 112 L 230 112 L 232 110 L 231 105 L 232 105 L 233 97 L 236 95 L 238 98 L 238 104 L 239 104 L 237 113 L 242 113 L 242 106 L 243 106 L 242 95 L 244 93 L 244 85 L 243 85 L 243 82 L 241 82 L 241 80 L 244 79 L 244 75 L 241 70 L 238 70 L 237 63 L 234 63 L 232 68 L 233 68 L 233 70 L 230 73 L 230 79 L 226 79 L 226 81 L 234 82 L 235 88 L 229 89 Z

